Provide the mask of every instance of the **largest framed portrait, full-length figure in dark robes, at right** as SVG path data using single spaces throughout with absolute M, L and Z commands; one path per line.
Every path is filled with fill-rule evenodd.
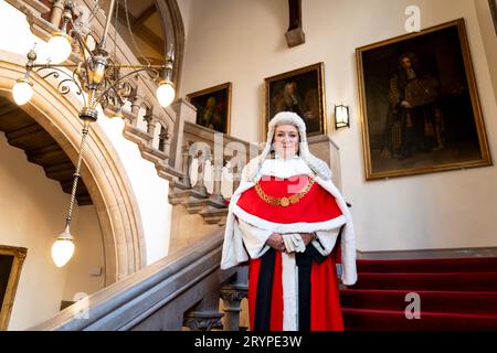
M 356 55 L 367 180 L 491 164 L 463 19 Z

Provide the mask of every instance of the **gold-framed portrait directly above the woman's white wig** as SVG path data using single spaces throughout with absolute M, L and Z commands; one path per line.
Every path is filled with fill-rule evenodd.
M 279 111 L 297 113 L 306 122 L 307 135 L 326 133 L 324 65 L 317 63 L 265 78 L 267 124 Z

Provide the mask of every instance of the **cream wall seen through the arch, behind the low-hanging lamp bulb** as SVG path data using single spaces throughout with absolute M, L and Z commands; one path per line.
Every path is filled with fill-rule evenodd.
M 87 270 L 104 264 L 93 206 L 75 207 L 73 261 L 63 268 L 52 261 L 52 244 L 64 228 L 68 201 L 61 184 L 47 179 L 42 167 L 28 162 L 24 151 L 11 147 L 0 132 L 0 244 L 28 248 L 9 330 L 27 329 L 51 318 L 59 312 L 61 301 L 72 300 L 75 292 L 103 288 L 104 278 L 91 278 Z

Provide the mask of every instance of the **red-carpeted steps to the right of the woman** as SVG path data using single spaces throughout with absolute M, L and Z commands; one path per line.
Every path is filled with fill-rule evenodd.
M 497 330 L 497 257 L 358 260 L 358 276 L 340 290 L 346 330 Z

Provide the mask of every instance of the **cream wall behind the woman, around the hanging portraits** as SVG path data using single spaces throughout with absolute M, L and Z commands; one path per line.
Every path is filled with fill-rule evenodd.
M 427 28 L 465 18 L 491 154 L 497 156 L 496 101 L 474 1 L 303 1 L 306 43 L 286 46 L 286 0 L 192 0 L 181 96 L 233 83 L 232 130 L 257 141 L 264 77 L 325 63 L 328 126 L 334 104 L 351 109 L 351 128 L 330 130 L 341 149 L 342 191 L 353 205 L 358 248 L 393 250 L 496 246 L 497 168 L 366 182 L 355 50 L 405 34 L 408 6 Z M 495 43 L 495 38 L 491 39 Z

